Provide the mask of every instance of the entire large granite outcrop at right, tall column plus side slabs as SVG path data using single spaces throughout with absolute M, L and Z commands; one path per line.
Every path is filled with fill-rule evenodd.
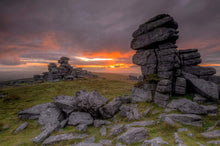
M 131 48 L 137 52 L 132 61 L 141 66 L 143 79 L 141 87 L 132 88 L 133 101 L 153 99 L 157 105 L 165 107 L 172 95 L 185 95 L 186 92 L 198 93 L 212 101 L 218 99 L 215 83 L 219 83 L 219 77 L 213 76 L 216 70 L 198 66 L 202 60 L 197 49 L 177 50 L 177 28 L 171 16 L 161 14 L 140 25 L 133 33 Z M 154 88 L 145 82 L 152 76 L 159 78 Z

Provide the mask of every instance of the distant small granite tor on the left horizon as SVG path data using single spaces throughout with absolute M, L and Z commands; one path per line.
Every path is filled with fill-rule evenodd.
M 60 80 L 74 80 L 77 78 L 85 77 L 97 77 L 87 70 L 82 68 L 73 68 L 69 64 L 69 58 L 61 57 L 58 60 L 60 66 L 58 67 L 55 63 L 48 65 L 49 72 L 43 72 L 43 75 L 34 75 L 34 81 L 60 81 Z

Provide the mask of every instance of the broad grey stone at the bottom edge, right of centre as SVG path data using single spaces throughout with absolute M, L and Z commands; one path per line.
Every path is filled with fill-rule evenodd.
M 142 142 L 148 138 L 148 131 L 145 128 L 130 128 L 117 138 L 127 144 Z

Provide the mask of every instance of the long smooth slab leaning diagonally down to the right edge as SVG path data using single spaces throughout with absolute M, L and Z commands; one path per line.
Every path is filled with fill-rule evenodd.
M 219 99 L 219 89 L 217 84 L 199 79 L 198 77 L 185 72 L 183 72 L 183 75 L 197 93 L 214 101 Z

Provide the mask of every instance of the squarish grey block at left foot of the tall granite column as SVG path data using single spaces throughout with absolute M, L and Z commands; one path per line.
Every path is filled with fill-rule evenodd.
M 132 102 L 146 102 L 152 100 L 152 93 L 151 91 L 145 91 L 144 89 L 132 87 L 131 88 L 131 97 Z

